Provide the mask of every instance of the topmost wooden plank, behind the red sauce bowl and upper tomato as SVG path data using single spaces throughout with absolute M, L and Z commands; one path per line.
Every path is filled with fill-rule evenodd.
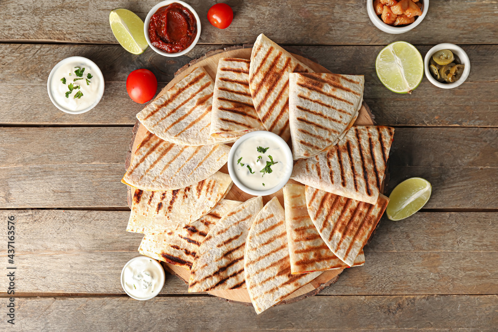
M 75 1 L 71 7 L 61 3 L 50 1 L 40 6 L 31 1 L 8 1 L 2 8 L 0 40 L 116 43 L 109 26 L 111 9 L 124 7 L 144 19 L 157 1 Z M 215 28 L 206 18 L 215 1 L 191 0 L 189 3 L 201 19 L 200 43 L 252 43 L 260 32 L 284 44 L 364 45 L 399 40 L 398 36 L 383 33 L 373 25 L 364 1 L 289 1 L 271 5 L 264 0 L 232 2 L 235 19 L 224 30 Z M 402 39 L 420 44 L 494 43 L 498 40 L 495 17 L 483 13 L 493 13 L 495 9 L 493 1 L 433 1 L 424 21 L 404 33 Z M 451 12 L 451 15 L 440 15 L 441 12 Z M 26 13 L 32 13 L 28 20 Z M 286 22 L 288 28 L 282 28 L 281 22 Z M 454 28 L 455 22 L 459 23 L 458 29 Z M 434 33 L 435 26 L 438 33 Z M 440 36 L 444 36 L 444 40 Z

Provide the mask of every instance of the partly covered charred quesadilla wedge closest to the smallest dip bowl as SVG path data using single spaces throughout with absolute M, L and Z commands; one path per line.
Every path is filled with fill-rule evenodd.
M 221 200 L 206 216 L 174 231 L 146 234 L 138 252 L 190 270 L 201 242 L 213 226 L 242 202 Z

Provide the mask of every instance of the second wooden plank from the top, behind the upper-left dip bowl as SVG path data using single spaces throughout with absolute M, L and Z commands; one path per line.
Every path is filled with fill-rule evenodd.
M 432 5 L 432 4 L 431 4 Z M 221 45 L 198 45 L 188 55 L 165 59 L 152 50 L 135 56 L 119 45 L 3 44 L 0 47 L 0 124 L 120 124 L 133 125 L 143 105 L 132 102 L 125 90 L 126 76 L 134 69 L 150 69 L 164 87 L 174 73 L 192 59 Z M 430 46 L 417 46 L 425 55 Z M 292 46 L 325 68 L 340 74 L 365 75 L 365 100 L 378 124 L 417 126 L 498 126 L 498 73 L 487 63 L 498 61 L 497 45 L 464 46 L 472 62 L 468 80 L 443 90 L 424 77 L 412 95 L 387 90 L 375 74 L 375 57 L 381 46 Z M 55 108 L 46 91 L 46 80 L 60 60 L 81 55 L 102 69 L 106 90 L 99 105 L 84 114 L 66 114 Z M 355 59 L 352 61 L 351 59 Z M 488 62 L 489 61 L 489 62 Z M 40 66 L 40 63 L 47 63 Z M 21 82 L 32 78 L 29 89 Z M 430 96 L 430 98 L 427 98 Z M 443 107 L 444 105 L 444 107 Z M 26 111 L 30 110 L 30 111 Z

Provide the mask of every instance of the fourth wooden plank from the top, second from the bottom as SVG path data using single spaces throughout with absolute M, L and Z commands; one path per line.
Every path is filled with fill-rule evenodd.
M 128 215 L 1 210 L 0 219 L 16 218 L 17 294 L 124 294 L 119 275 L 138 255 L 142 238 L 125 231 Z M 418 213 L 406 221 L 383 219 L 366 248 L 365 266 L 346 269 L 321 294 L 497 294 L 497 216 Z M 0 257 L 6 255 L 1 248 Z M 0 296 L 5 282 L 0 279 Z M 162 294 L 187 294 L 187 287 L 168 275 Z

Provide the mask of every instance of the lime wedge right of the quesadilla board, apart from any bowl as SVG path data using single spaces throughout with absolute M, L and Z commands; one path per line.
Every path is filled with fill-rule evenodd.
M 385 209 L 387 218 L 398 221 L 410 217 L 422 209 L 431 197 L 431 192 L 431 184 L 422 178 L 411 178 L 401 182 L 389 195 L 389 204 Z

